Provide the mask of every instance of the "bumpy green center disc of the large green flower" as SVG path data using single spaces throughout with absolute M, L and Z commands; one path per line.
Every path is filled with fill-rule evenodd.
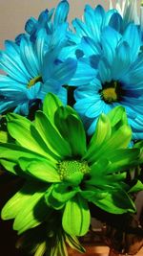
M 61 180 L 70 180 L 75 176 L 84 176 L 91 171 L 86 161 L 65 160 L 58 163 L 58 174 Z M 77 178 L 78 179 L 78 178 Z

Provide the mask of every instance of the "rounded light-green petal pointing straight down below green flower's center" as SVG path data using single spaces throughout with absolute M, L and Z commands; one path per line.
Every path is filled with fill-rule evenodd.
M 90 220 L 88 203 L 80 195 L 76 195 L 66 203 L 62 225 L 68 234 L 84 236 L 89 230 Z

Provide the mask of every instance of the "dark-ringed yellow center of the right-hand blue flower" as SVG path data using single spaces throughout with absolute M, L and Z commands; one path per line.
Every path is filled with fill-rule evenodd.
M 121 84 L 118 81 L 106 82 L 103 89 L 99 91 L 101 98 L 107 104 L 119 102 L 123 95 Z

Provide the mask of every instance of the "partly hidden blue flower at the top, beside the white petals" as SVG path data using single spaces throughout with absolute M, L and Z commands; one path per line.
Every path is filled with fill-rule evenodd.
M 76 34 L 72 34 L 71 39 L 75 43 L 80 43 L 83 36 L 88 36 L 98 42 L 104 27 L 110 25 L 110 23 L 113 27 L 120 26 L 121 19 L 120 14 L 115 9 L 105 12 L 102 6 L 92 9 L 90 5 L 86 5 L 84 21 L 78 18 L 72 21 Z

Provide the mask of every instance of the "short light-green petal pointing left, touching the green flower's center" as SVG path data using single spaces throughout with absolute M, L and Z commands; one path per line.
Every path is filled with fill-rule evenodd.
M 51 161 L 20 157 L 18 163 L 22 170 L 27 171 L 33 177 L 45 182 L 60 182 L 60 177 L 55 169 L 56 165 Z

